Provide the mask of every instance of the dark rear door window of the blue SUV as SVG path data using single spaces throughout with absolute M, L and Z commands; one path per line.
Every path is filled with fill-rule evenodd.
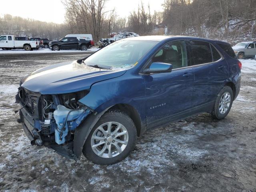
M 200 65 L 212 62 L 210 43 L 204 41 L 190 40 L 192 65 Z M 194 61 L 194 62 L 193 62 Z

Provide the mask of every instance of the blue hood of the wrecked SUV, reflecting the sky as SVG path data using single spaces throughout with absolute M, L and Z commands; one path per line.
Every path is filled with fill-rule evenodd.
M 126 70 L 98 69 L 77 61 L 36 70 L 21 80 L 21 86 L 41 94 L 63 94 L 90 89 L 96 82 L 122 76 Z

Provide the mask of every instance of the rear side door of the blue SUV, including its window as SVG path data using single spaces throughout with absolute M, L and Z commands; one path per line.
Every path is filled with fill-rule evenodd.
M 228 64 L 209 42 L 189 40 L 191 64 L 194 66 L 194 105 L 212 104 L 228 78 Z

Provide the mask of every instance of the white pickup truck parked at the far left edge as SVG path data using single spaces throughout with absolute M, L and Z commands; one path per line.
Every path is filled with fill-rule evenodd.
M 24 49 L 30 51 L 39 47 L 37 41 L 20 41 L 16 40 L 14 35 L 0 36 L 0 48 L 5 49 Z

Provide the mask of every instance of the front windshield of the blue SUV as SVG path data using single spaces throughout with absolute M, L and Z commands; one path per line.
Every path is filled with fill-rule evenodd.
M 110 68 L 130 68 L 157 43 L 145 40 L 119 40 L 86 58 L 84 63 Z

